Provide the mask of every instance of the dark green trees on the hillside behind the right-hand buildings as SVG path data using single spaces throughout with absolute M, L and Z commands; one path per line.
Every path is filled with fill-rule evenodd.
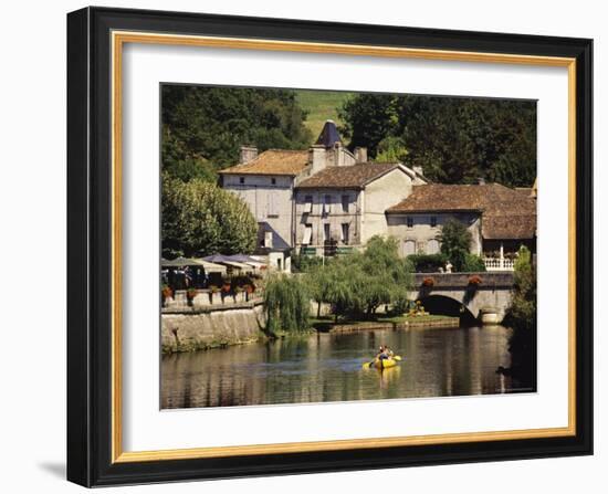
M 398 157 L 442 183 L 479 177 L 530 187 L 536 176 L 536 103 L 509 99 L 358 94 L 340 111 L 350 147 Z

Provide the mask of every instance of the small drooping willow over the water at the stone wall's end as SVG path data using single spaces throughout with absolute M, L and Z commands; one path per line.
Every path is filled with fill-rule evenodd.
M 264 290 L 266 329 L 300 333 L 308 329 L 311 296 L 297 276 L 275 276 Z

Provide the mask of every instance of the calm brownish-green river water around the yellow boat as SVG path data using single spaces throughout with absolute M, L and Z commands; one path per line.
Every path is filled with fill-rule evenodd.
M 161 408 L 378 400 L 532 391 L 511 365 L 503 326 L 317 334 L 164 356 Z M 380 345 L 403 360 L 363 369 Z

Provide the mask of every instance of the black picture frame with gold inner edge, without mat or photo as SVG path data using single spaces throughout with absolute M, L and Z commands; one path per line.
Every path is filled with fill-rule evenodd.
M 128 43 L 565 67 L 567 427 L 125 451 L 122 156 L 126 143 L 120 87 L 123 49 Z M 70 481 L 104 486 L 593 453 L 591 40 L 85 8 L 67 15 L 67 120 Z

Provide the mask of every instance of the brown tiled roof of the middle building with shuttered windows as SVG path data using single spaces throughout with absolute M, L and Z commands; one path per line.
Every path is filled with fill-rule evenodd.
M 399 167 L 395 162 L 363 162 L 348 167 L 328 167 L 298 183 L 300 189 L 361 189 L 370 181 Z

